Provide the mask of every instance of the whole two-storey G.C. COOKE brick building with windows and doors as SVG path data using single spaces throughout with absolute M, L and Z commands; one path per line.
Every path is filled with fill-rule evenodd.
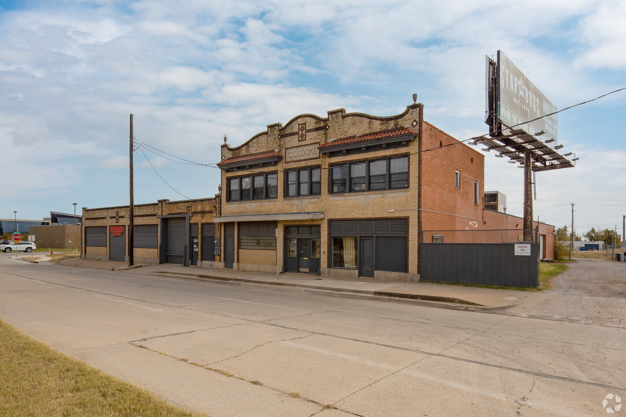
M 221 254 L 211 266 L 418 281 L 422 239 L 519 228 L 519 218 L 484 207 L 483 154 L 424 121 L 423 109 L 301 114 L 222 144 Z M 544 258 L 553 258 L 553 229 L 540 224 Z M 438 230 L 459 232 L 427 232 Z

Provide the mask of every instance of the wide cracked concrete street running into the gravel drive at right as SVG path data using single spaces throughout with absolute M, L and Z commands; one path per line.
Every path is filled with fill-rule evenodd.
M 209 416 L 600 416 L 626 402 L 626 264 L 595 262 L 478 313 L 0 254 L 0 314 Z

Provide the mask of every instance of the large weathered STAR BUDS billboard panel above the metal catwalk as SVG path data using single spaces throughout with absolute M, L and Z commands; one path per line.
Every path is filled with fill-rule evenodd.
M 556 114 L 528 122 L 557 111 L 554 104 L 536 88 L 535 84 L 526 78 L 524 73 L 510 59 L 506 58 L 502 51 L 498 51 L 496 68 L 493 68 L 493 61 L 491 61 L 492 65 L 490 66 L 490 61 L 490 59 L 487 59 L 485 80 L 487 84 L 487 119 L 490 119 L 489 113 L 495 113 L 493 116 L 496 116 L 504 126 L 515 126 L 515 129 L 523 129 L 523 131 L 529 134 L 544 131 L 545 134 L 538 139 L 541 141 L 554 139 L 555 141 L 550 144 L 551 147 L 558 144 Z M 490 83 L 490 79 L 493 79 L 494 76 L 495 83 Z M 490 93 L 494 87 L 496 106 L 492 108 L 490 104 L 493 101 L 490 103 Z M 493 109 L 493 111 L 490 111 L 490 109 Z M 491 124 L 487 120 L 486 123 Z

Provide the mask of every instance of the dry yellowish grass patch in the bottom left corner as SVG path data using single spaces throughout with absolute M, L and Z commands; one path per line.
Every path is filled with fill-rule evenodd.
M 3 416 L 198 416 L 51 349 L 2 319 L 0 364 Z

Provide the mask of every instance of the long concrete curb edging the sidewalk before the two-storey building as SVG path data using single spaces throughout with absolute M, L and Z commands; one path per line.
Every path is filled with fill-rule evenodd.
M 435 307 L 435 308 L 445 308 L 452 310 L 464 310 L 464 311 L 500 311 L 504 309 L 511 308 L 516 303 L 510 304 L 508 306 L 480 306 L 480 305 L 472 305 L 472 304 L 464 304 L 471 303 L 471 301 L 464 301 L 464 303 L 455 303 L 454 301 L 447 301 L 448 299 L 458 299 L 458 298 L 449 298 L 449 297 L 437 297 L 437 296 L 420 296 L 416 294 L 399 294 L 403 295 L 403 297 L 395 296 L 398 293 L 384 293 L 384 291 L 366 291 L 359 289 L 346 289 L 346 288 L 330 288 L 330 287 L 322 287 L 322 286 L 309 286 L 302 284 L 294 284 L 294 283 L 276 283 L 274 281 L 255 281 L 252 279 L 245 278 L 230 278 L 224 276 L 211 276 L 211 275 L 202 275 L 202 274 L 184 274 L 184 273 L 176 273 L 176 272 L 167 272 L 167 271 L 152 271 L 150 274 L 155 274 L 156 276 L 168 276 L 170 278 L 182 278 L 182 279 L 193 279 L 194 281 L 220 281 L 223 284 L 230 285 L 245 285 L 251 288 L 265 288 L 268 286 L 273 286 L 274 288 L 280 288 L 282 291 L 289 291 L 291 293 L 307 293 L 307 294 L 316 294 L 316 295 L 326 295 L 340 298 L 353 298 L 353 299 L 367 299 L 370 301 L 381 301 L 381 302 L 389 302 L 389 303 L 398 303 L 398 304 L 411 304 L 414 306 L 422 306 L 422 307 Z M 387 294 L 387 295 L 383 295 Z M 391 295 L 394 294 L 394 295 Z M 460 300 L 460 299 L 458 299 Z M 521 300 L 520 300 L 521 301 Z

